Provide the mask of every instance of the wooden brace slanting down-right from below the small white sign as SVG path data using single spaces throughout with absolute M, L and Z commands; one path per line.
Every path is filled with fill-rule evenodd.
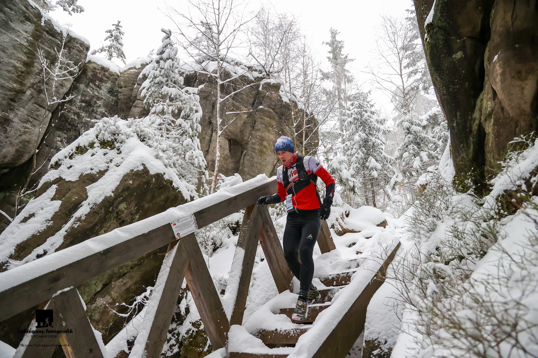
M 217 350 L 226 345 L 230 323 L 222 308 L 221 296 L 217 293 L 196 237 L 187 235 L 181 241 L 185 245 L 190 260 L 185 274 L 187 286 L 206 328 L 211 347 Z

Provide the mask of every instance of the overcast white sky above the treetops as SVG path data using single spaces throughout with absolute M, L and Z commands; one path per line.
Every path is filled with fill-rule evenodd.
M 56 10 L 50 15 L 62 24 L 71 24 L 76 33 L 90 41 L 92 49 L 101 47 L 104 31 L 121 20 L 125 32 L 124 51 L 127 62 L 130 62 L 159 47 L 161 27 L 174 30 L 174 25 L 163 13 L 166 12 L 166 4 L 181 10 L 185 3 L 184 0 L 167 0 L 166 3 L 164 0 L 79 0 L 84 12 L 69 16 L 65 11 Z M 261 3 L 252 0 L 249 6 L 257 8 Z M 372 61 L 374 28 L 379 23 L 380 14 L 403 17 L 405 10 L 412 7 L 410 0 L 272 0 L 271 3 L 277 10 L 291 12 L 300 18 L 304 30 L 323 57 L 328 48 L 322 42 L 329 40 L 329 28 L 340 31 L 339 39 L 345 41 L 344 52 L 355 59 L 351 66 L 352 74 L 359 82 L 365 82 L 364 89 L 369 89 L 369 86 L 367 77 L 360 71 Z M 386 96 L 379 92 L 372 94 L 374 101 L 389 109 Z

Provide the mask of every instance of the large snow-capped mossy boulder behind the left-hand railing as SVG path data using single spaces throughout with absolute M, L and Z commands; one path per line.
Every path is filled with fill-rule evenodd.
M 162 153 L 141 139 L 135 124 L 104 118 L 53 157 L 35 198 L 0 234 L 2 271 L 193 198 L 194 186 L 164 164 Z M 165 252 L 162 247 L 147 253 L 78 287 L 90 322 L 105 342 L 124 322 L 109 306 L 132 304 L 153 286 Z M 24 317 L 26 328 L 31 315 Z

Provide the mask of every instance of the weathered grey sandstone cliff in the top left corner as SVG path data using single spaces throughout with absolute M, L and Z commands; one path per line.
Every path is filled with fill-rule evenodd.
M 3 1 L 0 14 L 2 173 L 30 159 L 34 144 L 43 138 L 44 129 L 57 106 L 47 105 L 38 48 L 54 64 L 55 49 L 60 50 L 65 34 L 69 60 L 78 64 L 84 63 L 89 42 L 42 14 L 36 5 L 28 1 Z M 72 78 L 59 81 L 55 96 L 63 97 L 72 82 Z M 50 81 L 47 85 L 51 85 Z M 43 130 L 39 131 L 40 127 Z

